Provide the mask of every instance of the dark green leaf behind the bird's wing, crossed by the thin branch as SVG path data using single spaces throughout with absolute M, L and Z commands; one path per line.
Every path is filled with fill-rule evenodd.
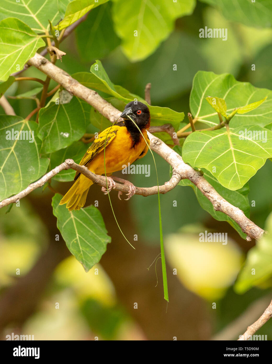
M 50 158 L 50 163 L 48 167 L 48 171 L 51 171 L 56 166 L 59 166 L 61 163 L 65 161 L 65 159 L 71 158 L 77 164 L 81 161 L 83 155 L 88 149 L 89 145 L 78 141 L 73 142 L 73 144 L 69 145 L 69 147 L 57 150 L 56 152 L 50 153 L 47 157 Z M 56 174 L 52 179 L 60 182 L 68 182 L 73 181 L 75 177 L 75 171 L 72 169 L 60 171 L 60 173 Z

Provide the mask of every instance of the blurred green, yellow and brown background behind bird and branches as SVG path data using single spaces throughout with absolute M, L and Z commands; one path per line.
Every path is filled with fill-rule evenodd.
M 151 82 L 153 105 L 167 106 L 185 115 L 189 112 L 193 76 L 199 70 L 227 72 L 239 81 L 272 88 L 271 28 L 230 21 L 219 9 L 197 2 L 193 14 L 177 19 L 174 31 L 152 55 L 132 63 L 113 32 L 111 2 L 101 6 L 105 8 L 99 25 L 102 37 L 93 27 L 100 16 L 98 7 L 61 43 L 60 48 L 67 55 L 58 66 L 69 74 L 88 72 L 91 64 L 100 59 L 114 84 L 144 96 L 145 85 Z M 205 25 L 227 28 L 228 40 L 199 38 L 199 29 Z M 111 40 L 106 42 L 110 46 L 103 43 L 103 36 Z M 173 64 L 177 65 L 176 71 Z M 33 67 L 21 75 L 43 78 Z M 55 86 L 52 81 L 49 90 Z M 14 83 L 6 96 L 34 87 L 34 82 Z M 33 100 L 9 102 L 22 116 L 36 107 Z M 92 127 L 92 131 L 98 130 Z M 156 185 L 152 157 L 148 154 L 144 159 L 151 166 L 151 176 L 130 175 L 129 180 L 136 186 Z M 155 159 L 159 183 L 163 184 L 169 180 L 169 165 L 157 155 Z M 271 178 L 272 165 L 268 160 L 249 181 L 249 201 L 255 201 L 250 218 L 261 228 L 272 210 Z M 65 193 L 71 183 L 52 182 L 52 186 Z M 161 195 L 168 308 L 163 299 L 160 260 L 156 265 L 158 283 L 155 272 L 160 252 L 156 196 L 134 196 L 128 202 L 120 202 L 117 194 L 112 194 L 113 208 L 125 236 L 130 241 L 135 234 L 138 236 L 133 250 L 117 228 L 108 197 L 99 186 L 91 188 L 87 205 L 99 200 L 112 242 L 100 264 L 88 273 L 61 238 L 52 214 L 52 196 L 50 190 L 39 189 L 8 214 L 5 209 L 0 211 L 0 322 L 4 340 L 11 332 L 34 335 L 35 340 L 236 340 L 270 301 L 269 279 L 244 294 L 234 292 L 237 273 L 255 242 L 241 239 L 227 222 L 214 220 L 200 207 L 189 186 L 177 186 Z M 228 244 L 200 243 L 198 232 L 205 230 L 227 233 Z M 59 241 L 55 240 L 56 234 Z M 16 275 L 17 268 L 20 276 Z M 173 269 L 177 274 L 173 274 Z M 241 315 L 243 323 L 234 327 Z M 225 328 L 229 331 L 225 332 Z M 272 323 L 265 324 L 257 334 L 271 340 Z

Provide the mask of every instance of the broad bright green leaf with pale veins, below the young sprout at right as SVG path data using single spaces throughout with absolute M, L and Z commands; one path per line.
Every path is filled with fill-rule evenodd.
M 232 191 L 243 187 L 271 156 L 272 132 L 257 125 L 195 131 L 182 149 L 185 163 L 207 169 Z

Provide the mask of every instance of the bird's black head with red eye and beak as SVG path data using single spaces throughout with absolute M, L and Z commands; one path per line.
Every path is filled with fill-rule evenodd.
M 125 126 L 128 130 L 130 128 L 136 128 L 131 119 L 137 124 L 140 130 L 148 129 L 150 126 L 149 108 L 142 102 L 138 101 L 136 104 L 135 101 L 129 102 L 120 116 L 125 120 Z

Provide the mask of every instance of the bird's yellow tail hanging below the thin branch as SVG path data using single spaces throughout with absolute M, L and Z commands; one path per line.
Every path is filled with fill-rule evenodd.
M 80 210 L 80 208 L 85 205 L 87 194 L 92 184 L 93 182 L 89 178 L 80 175 L 73 186 L 61 199 L 60 205 L 66 203 L 66 207 L 69 211 Z

